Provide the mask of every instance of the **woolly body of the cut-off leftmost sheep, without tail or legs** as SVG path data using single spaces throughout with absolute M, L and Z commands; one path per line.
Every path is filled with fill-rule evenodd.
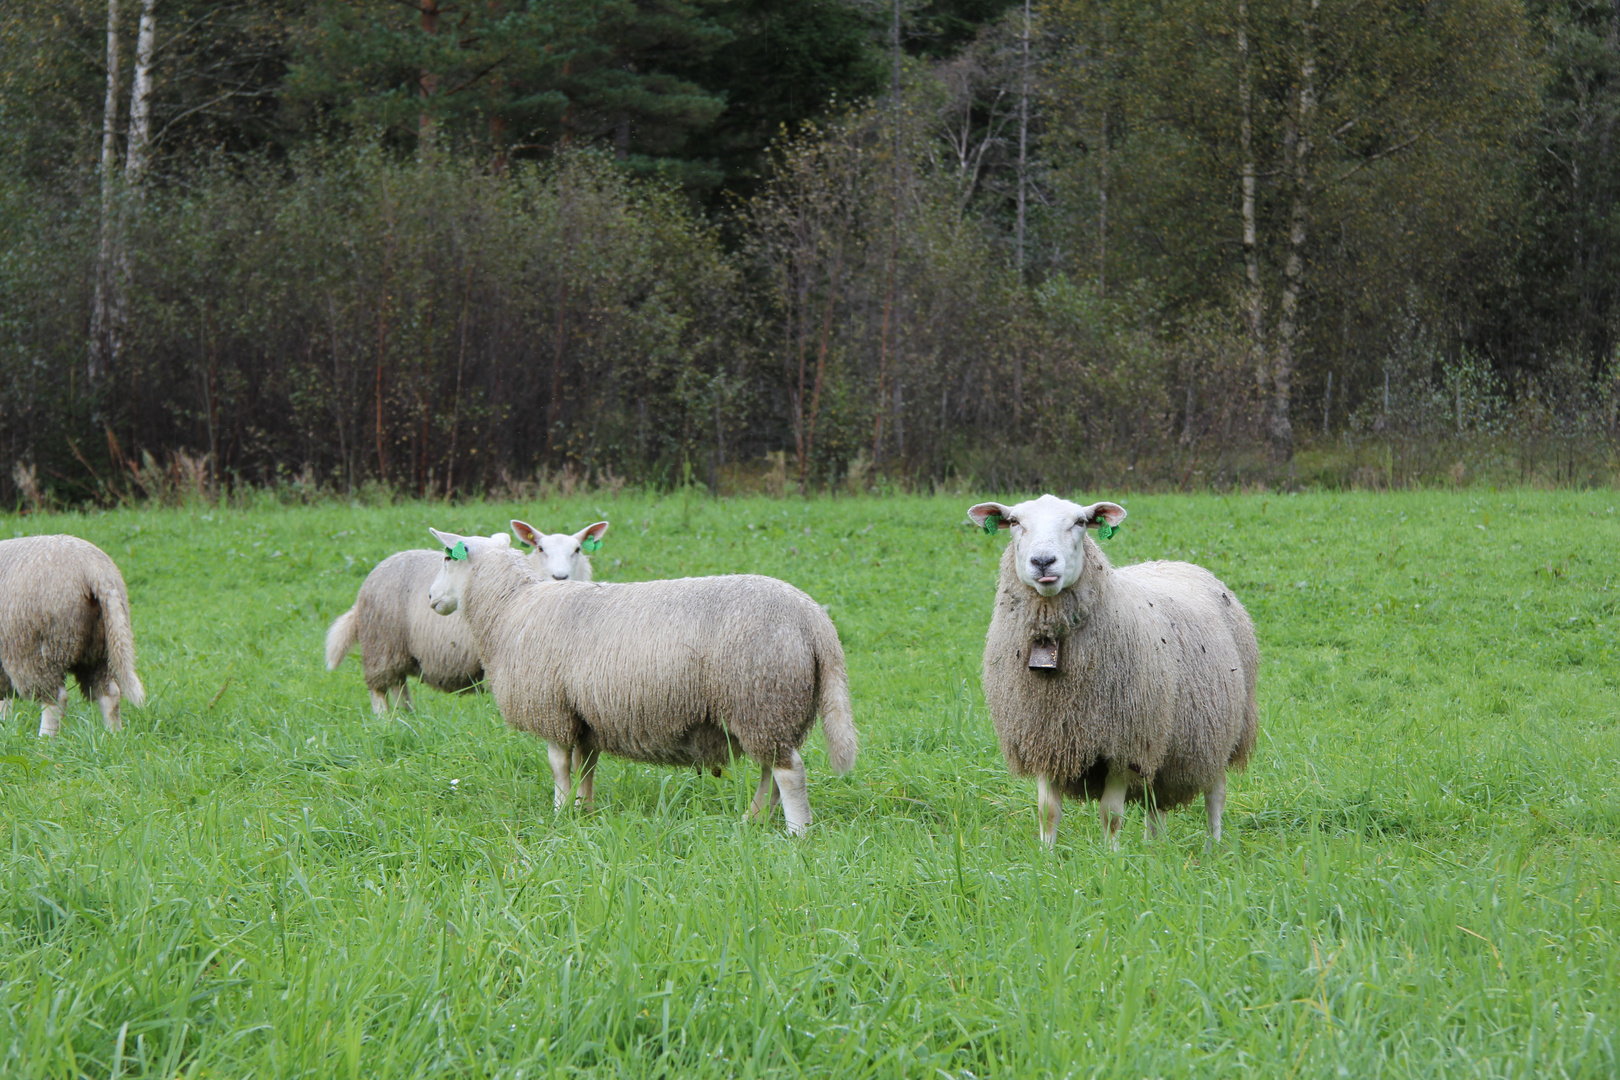
M 105 667 L 94 589 L 122 580 L 107 552 L 76 536 L 0 541 L 0 678 L 11 693 L 52 698 L 66 672 Z

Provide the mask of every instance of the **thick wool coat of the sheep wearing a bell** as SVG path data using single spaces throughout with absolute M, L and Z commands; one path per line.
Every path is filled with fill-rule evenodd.
M 1179 806 L 1254 750 L 1254 623 L 1202 567 L 1115 568 L 1082 542 L 1079 581 L 1053 597 L 1019 580 L 1013 544 L 1001 557 L 983 661 L 1001 753 L 1074 798 L 1098 798 L 1118 766 L 1128 798 L 1152 787 L 1157 806 Z M 1042 640 L 1058 643 L 1056 670 L 1029 667 Z

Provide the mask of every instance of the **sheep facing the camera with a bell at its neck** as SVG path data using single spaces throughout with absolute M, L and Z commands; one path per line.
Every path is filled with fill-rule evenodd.
M 1064 795 L 1097 798 L 1118 847 L 1128 798 L 1147 803 L 1153 837 L 1202 792 L 1218 842 L 1226 771 L 1247 764 L 1259 722 L 1260 653 L 1233 591 L 1186 562 L 1115 568 L 1087 534 L 1118 528 L 1113 502 L 1042 495 L 967 517 L 1011 531 L 983 687 L 1009 769 L 1035 777 L 1040 839 L 1056 842 Z

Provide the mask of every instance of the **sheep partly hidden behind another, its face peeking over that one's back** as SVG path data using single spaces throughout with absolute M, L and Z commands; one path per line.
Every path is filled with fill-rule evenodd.
M 601 546 L 606 521 L 578 533 L 541 534 L 526 521 L 512 521 L 518 539 L 531 544 L 530 559 L 552 578 L 591 580 L 591 560 L 583 549 Z M 491 538 L 510 542 L 505 533 Z M 339 615 L 326 631 L 326 669 L 335 672 L 350 649 L 360 644 L 371 709 L 386 712 L 390 704 L 410 709 L 408 675 L 436 690 L 470 690 L 484 677 L 471 635 L 462 619 L 444 620 L 428 607 L 428 586 L 439 572 L 436 551 L 402 551 L 373 568 L 360 585 L 355 606 Z

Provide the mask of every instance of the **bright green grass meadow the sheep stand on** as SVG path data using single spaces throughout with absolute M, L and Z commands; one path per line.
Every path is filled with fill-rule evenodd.
M 1097 492 L 1102 495 L 1106 492 Z M 1095 495 L 1094 495 L 1095 497 Z M 1040 850 L 978 691 L 972 500 L 0 518 L 123 567 L 151 704 L 0 732 L 5 1077 L 1614 1077 L 1620 497 L 1131 497 L 1260 635 L 1260 745 L 1202 813 Z M 551 813 L 486 696 L 374 717 L 327 622 L 424 525 L 612 520 L 603 580 L 831 607 L 863 748 L 816 826 L 604 759 Z

